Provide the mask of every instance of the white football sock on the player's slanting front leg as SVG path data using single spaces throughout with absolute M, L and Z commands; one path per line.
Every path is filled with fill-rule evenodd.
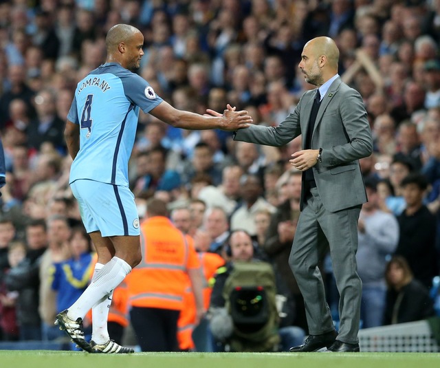
M 130 272 L 131 266 L 129 263 L 126 263 L 126 261 L 118 257 L 113 257 L 109 263 L 95 272 L 90 285 L 72 307 L 69 307 L 67 316 L 74 321 L 76 321 L 78 317 L 84 318 L 90 308 L 105 301 L 109 294 L 113 292 L 113 289 L 116 288 Z

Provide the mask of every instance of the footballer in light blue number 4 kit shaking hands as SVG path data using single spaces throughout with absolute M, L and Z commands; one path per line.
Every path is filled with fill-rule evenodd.
M 128 180 L 139 109 L 173 127 L 192 130 L 236 131 L 248 128 L 252 118 L 230 105 L 218 116 L 181 111 L 156 96 L 143 78 L 130 72 L 140 67 L 144 55 L 144 35 L 132 25 L 113 25 L 105 45 L 106 62 L 78 83 L 64 131 L 74 159 L 70 187 L 98 260 L 91 283 L 57 314 L 56 324 L 89 353 L 127 354 L 134 350 L 111 340 L 107 317 L 113 290 L 142 260 L 139 217 Z M 196 304 L 203 305 L 203 300 Z M 89 343 L 82 322 L 90 309 Z M 201 316 L 203 310 L 199 308 L 197 314 Z

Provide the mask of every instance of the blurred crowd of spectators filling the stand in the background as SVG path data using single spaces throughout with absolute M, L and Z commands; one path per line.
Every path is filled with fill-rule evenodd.
M 313 88 L 298 69 L 305 43 L 332 37 L 340 50 L 338 72 L 360 91 L 373 131 L 374 153 L 361 160 L 362 173 L 377 188 L 378 210 L 399 225 L 398 240 L 388 244 L 381 262 L 391 255 L 406 258 L 408 268 L 397 266 L 420 288 L 430 288 L 440 264 L 440 0 L 1 1 L 3 338 L 50 334 L 56 297 L 48 299 L 52 290 L 38 283 L 38 275 L 47 281 L 47 274 L 36 270 L 19 292 L 5 287 L 3 275 L 20 264 L 12 258 L 23 257 L 23 244 L 21 263 L 28 266 L 38 267 L 41 255 L 50 263 L 77 257 L 70 255 L 69 232 L 80 216 L 68 185 L 72 159 L 63 129 L 76 83 L 104 63 L 104 37 L 117 23 L 142 31 L 145 54 L 137 73 L 176 108 L 203 114 L 230 103 L 246 109 L 255 124 L 272 126 Z M 300 138 L 278 149 L 233 142 L 224 131 L 182 131 L 141 111 L 129 176 L 140 217 L 150 197 L 166 201 L 170 210 L 187 207 L 188 234 L 209 239 L 212 252 L 221 254 L 228 232 L 245 224 L 294 296 L 292 323 L 307 329 L 287 267 L 300 178 L 288 160 L 300 147 Z M 54 221 L 69 230 L 61 233 Z M 368 232 L 366 224 L 360 233 Z M 362 243 L 369 240 L 364 236 Z M 334 305 L 325 257 L 323 265 Z M 377 282 L 385 285 L 385 266 L 378 269 L 383 274 Z M 49 309 L 39 312 L 49 301 Z M 15 326 L 5 317 L 14 303 Z M 375 320 L 384 323 L 382 316 Z M 388 313 L 386 321 L 395 318 Z

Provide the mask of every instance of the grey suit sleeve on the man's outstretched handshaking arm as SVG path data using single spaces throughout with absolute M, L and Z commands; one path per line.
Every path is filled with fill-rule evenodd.
M 234 140 L 274 147 L 284 146 L 301 133 L 299 111 L 300 102 L 298 102 L 294 112 L 290 113 L 278 127 L 251 125 L 249 128 L 237 131 L 234 135 Z

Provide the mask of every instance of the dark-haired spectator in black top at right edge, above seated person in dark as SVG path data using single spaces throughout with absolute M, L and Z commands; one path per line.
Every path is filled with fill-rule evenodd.
M 406 208 L 397 216 L 399 243 L 396 255 L 406 259 L 415 279 L 431 288 L 432 278 L 439 272 L 439 255 L 435 248 L 436 219 L 423 204 L 428 181 L 419 173 L 412 173 L 401 181 Z

